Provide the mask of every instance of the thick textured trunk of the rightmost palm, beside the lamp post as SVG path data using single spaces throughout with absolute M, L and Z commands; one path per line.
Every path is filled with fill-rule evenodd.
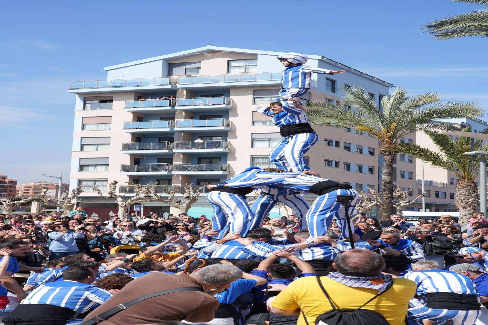
M 471 215 L 478 210 L 480 196 L 478 185 L 474 181 L 461 181 L 456 183 L 456 205 L 459 208 L 459 223 L 469 223 Z

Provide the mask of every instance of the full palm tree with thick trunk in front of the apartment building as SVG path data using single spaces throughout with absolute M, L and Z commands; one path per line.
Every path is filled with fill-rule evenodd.
M 404 88 L 395 88 L 383 97 L 378 108 L 362 88 L 343 88 L 344 100 L 311 102 L 307 106 L 308 120 L 312 124 L 331 125 L 369 132 L 380 142 L 379 154 L 385 159 L 381 171 L 380 220 L 388 220 L 393 202 L 393 158 L 400 152 L 397 142 L 410 133 L 423 130 L 459 130 L 446 122 L 448 118 L 474 118 L 482 111 L 472 102 L 441 102 L 437 93 L 407 96 Z M 353 107 L 353 108 L 350 108 Z

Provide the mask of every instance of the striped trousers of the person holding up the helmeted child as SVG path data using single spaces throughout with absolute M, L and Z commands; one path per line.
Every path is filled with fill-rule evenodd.
M 310 170 L 303 156 L 319 137 L 317 133 L 299 133 L 281 139 L 271 153 L 269 161 L 285 171 Z

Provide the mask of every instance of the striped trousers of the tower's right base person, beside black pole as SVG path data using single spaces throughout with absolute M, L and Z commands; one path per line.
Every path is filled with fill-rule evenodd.
M 340 202 L 336 202 L 338 195 L 352 195 L 353 199 L 349 203 L 350 205 L 356 205 L 356 201 L 358 201 L 358 192 L 353 189 L 339 189 L 319 196 L 312 203 L 305 216 L 310 236 L 324 236 L 332 219 L 334 219 L 342 232 L 342 236 L 349 237 L 348 226 L 352 227 L 352 222 L 350 218 L 346 218 L 346 209 Z M 348 208 L 349 217 L 353 211 L 354 207 Z

